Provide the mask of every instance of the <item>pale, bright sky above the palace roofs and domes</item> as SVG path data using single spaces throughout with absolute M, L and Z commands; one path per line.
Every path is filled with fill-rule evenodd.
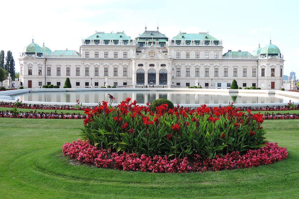
M 284 55 L 284 75 L 299 77 L 299 1 L 202 0 L 11 0 L 1 3 L 0 50 L 18 58 L 32 42 L 54 50 L 79 52 L 82 39 L 98 32 L 124 31 L 132 39 L 147 30 L 168 38 L 179 32 L 208 32 L 228 50 L 249 51 L 271 43 Z M 294 55 L 294 56 L 292 56 Z

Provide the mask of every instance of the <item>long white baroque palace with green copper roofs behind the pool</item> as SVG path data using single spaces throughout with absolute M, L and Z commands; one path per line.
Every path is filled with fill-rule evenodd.
M 83 39 L 79 52 L 51 51 L 32 43 L 21 54 L 20 81 L 24 88 L 42 85 L 72 88 L 117 86 L 229 88 L 235 79 L 239 87 L 280 89 L 283 55 L 270 43 L 248 51 L 222 52 L 222 40 L 208 33 L 180 32 L 169 39 L 146 30 L 135 39 L 124 32 L 96 32 Z

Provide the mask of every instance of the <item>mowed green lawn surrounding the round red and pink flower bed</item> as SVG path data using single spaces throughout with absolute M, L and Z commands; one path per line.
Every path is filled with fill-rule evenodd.
M 83 120 L 0 118 L 0 198 L 299 198 L 299 120 L 265 120 L 282 162 L 231 171 L 153 174 L 69 164 L 61 146 Z

